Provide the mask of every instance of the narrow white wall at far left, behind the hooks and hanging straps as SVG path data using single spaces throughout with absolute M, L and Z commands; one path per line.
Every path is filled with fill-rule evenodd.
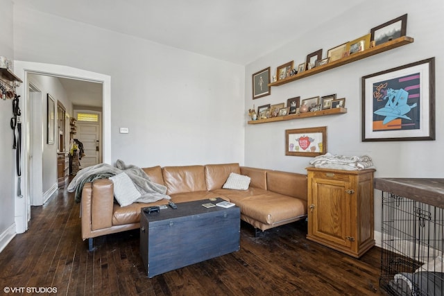
M 12 51 L 12 2 L 0 0 L 0 55 L 13 60 Z M 12 101 L 0 100 L 0 251 L 15 234 L 14 196 L 15 184 L 15 150 L 12 149 Z

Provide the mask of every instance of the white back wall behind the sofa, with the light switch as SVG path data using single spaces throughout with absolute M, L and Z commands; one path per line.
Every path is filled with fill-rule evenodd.
M 112 77 L 113 162 L 243 162 L 244 67 L 22 6 L 14 24 L 16 60 Z

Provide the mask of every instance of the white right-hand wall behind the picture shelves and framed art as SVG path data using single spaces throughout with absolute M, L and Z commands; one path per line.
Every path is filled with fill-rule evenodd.
M 444 119 L 440 116 L 444 103 L 443 58 L 444 42 L 439 37 L 444 28 L 444 2 L 431 0 L 420 3 L 413 0 L 367 1 L 343 15 L 316 24 L 307 35 L 283 46 L 246 67 L 246 107 L 266 103 L 287 103 L 287 98 L 337 94 L 345 97 L 347 114 L 323 116 L 277 123 L 246 126 L 245 164 L 265 168 L 306 173 L 311 157 L 293 157 L 284 154 L 284 133 L 287 129 L 327 126 L 328 152 L 337 155 L 370 155 L 377 168 L 375 177 L 443 177 L 441 151 L 444 143 Z M 319 73 L 309 78 L 272 87 L 271 95 L 252 100 L 251 75 L 271 66 L 272 72 L 280 64 L 305 62 L 308 53 L 327 50 L 370 33 L 370 28 L 408 13 L 407 35 L 413 44 L 386 51 L 370 58 Z M 297 26 L 296 26 L 297 31 Z M 425 58 L 436 57 L 436 141 L 361 141 L 361 77 Z M 380 191 L 375 191 L 375 229 L 380 230 Z

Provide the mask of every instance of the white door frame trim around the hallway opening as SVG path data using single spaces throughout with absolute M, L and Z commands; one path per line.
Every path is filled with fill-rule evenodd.
M 111 101 L 111 84 L 110 84 L 110 76 L 103 75 L 101 73 L 94 73 L 90 71 L 85 71 L 82 69 L 76 69 L 72 67 L 65 67 L 55 64 L 42 64 L 35 62 L 24 62 L 24 61 L 15 61 L 15 73 L 19 78 L 23 80 L 23 83 L 20 87 L 17 88 L 17 94 L 22 96 L 23 107 L 22 110 L 22 121 L 25 121 L 23 125 L 22 132 L 23 134 L 31 134 L 31 115 L 29 113 L 31 104 L 31 93 L 28 92 L 28 73 L 41 74 L 46 76 L 56 76 L 60 78 L 71 78 L 76 80 L 85 80 L 90 82 L 99 82 L 102 84 L 102 95 L 103 95 L 103 162 L 108 164 L 111 163 L 111 120 L 110 120 L 110 101 Z M 24 137 L 23 147 L 24 155 L 22 157 L 22 168 L 24 168 L 23 177 L 22 177 L 22 192 L 25 193 L 26 196 L 20 197 L 17 196 L 17 189 L 15 192 L 15 225 L 16 232 L 23 233 L 28 229 L 28 222 L 30 218 L 31 211 L 31 198 L 30 194 L 33 189 L 30 189 L 30 186 L 33 185 L 33 182 L 30 182 L 30 161 L 29 157 L 30 153 L 30 143 L 31 139 L 28 137 Z M 31 155 L 32 156 L 32 155 Z M 34 170 L 33 164 L 31 164 L 31 168 Z M 56 169 L 56 168 L 55 168 Z M 15 182 L 17 182 L 18 177 L 15 177 Z M 24 180 L 23 180 L 24 179 Z

